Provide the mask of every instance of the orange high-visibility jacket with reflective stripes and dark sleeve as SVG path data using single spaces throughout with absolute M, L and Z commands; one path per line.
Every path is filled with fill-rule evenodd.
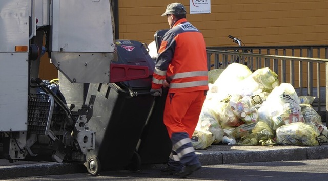
M 152 89 L 170 83 L 169 93 L 208 90 L 207 54 L 203 35 L 187 19 L 175 22 L 163 36 Z

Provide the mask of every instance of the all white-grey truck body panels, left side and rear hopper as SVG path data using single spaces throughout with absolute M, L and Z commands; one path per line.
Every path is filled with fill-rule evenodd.
M 0 131 L 27 130 L 30 40 L 45 26 L 51 61 L 71 82 L 109 82 L 115 52 L 110 1 L 0 1 Z

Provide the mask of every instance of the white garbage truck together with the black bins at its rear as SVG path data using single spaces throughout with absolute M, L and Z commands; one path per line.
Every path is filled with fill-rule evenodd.
M 0 1 L 0 158 L 139 170 L 172 144 L 147 44 L 115 39 L 109 0 Z M 39 78 L 48 52 L 58 81 Z

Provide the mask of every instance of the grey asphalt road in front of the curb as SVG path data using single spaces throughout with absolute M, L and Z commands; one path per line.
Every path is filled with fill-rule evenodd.
M 160 168 L 144 168 L 138 172 L 108 171 L 97 176 L 88 173 L 48 175 L 7 180 L 328 180 L 328 159 L 253 162 L 203 166 L 188 178 L 162 176 Z

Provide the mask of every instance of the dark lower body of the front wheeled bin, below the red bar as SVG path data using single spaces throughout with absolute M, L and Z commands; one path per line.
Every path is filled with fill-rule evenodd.
M 115 84 L 100 88 L 91 84 L 89 93 L 96 95 L 88 123 L 96 132 L 96 145 L 88 156 L 96 155 L 104 169 L 124 169 L 136 151 L 154 98 L 149 94 L 131 97 Z

